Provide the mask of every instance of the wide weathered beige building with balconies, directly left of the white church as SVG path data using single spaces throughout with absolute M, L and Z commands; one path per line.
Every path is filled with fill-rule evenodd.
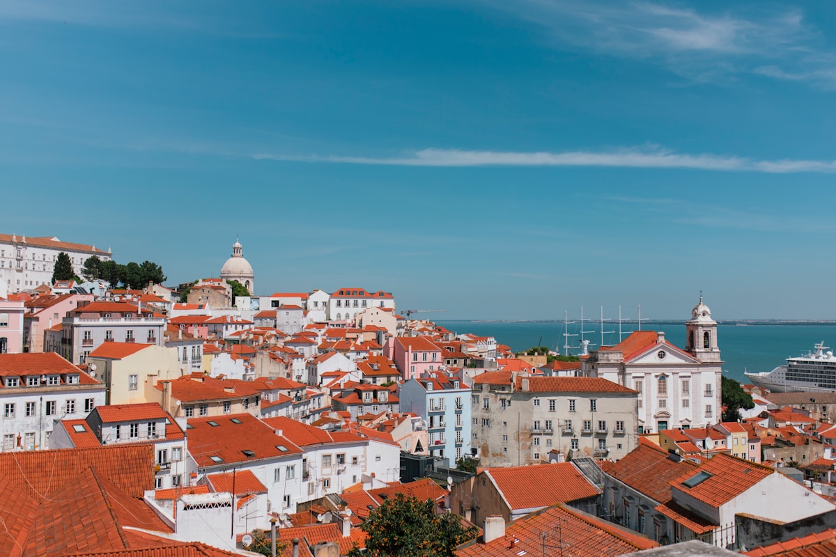
M 558 453 L 617 460 L 638 444 L 638 392 L 599 377 L 485 372 L 473 379 L 471 403 L 471 446 L 482 466 Z

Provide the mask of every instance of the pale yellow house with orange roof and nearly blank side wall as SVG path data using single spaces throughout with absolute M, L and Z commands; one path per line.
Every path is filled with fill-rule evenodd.
M 88 372 L 107 385 L 108 404 L 158 402 L 146 398 L 157 381 L 183 375 L 176 348 L 104 342 L 87 357 Z

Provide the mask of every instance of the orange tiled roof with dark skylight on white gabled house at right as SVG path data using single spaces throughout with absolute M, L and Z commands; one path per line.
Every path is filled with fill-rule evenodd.
M 692 488 L 683 484 L 699 472 L 706 472 L 711 476 Z M 772 473 L 776 473 L 772 468 L 733 457 L 731 454 L 717 453 L 699 468 L 689 470 L 679 478 L 671 480 L 670 485 L 698 501 L 719 507 Z

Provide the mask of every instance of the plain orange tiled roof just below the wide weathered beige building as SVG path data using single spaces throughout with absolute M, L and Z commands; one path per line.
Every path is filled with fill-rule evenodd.
M 573 463 L 486 468 L 511 509 L 538 509 L 595 497 L 601 492 Z

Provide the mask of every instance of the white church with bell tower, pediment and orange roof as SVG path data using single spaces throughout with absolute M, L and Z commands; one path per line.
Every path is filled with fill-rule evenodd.
M 614 347 L 589 352 L 581 368 L 639 392 L 639 433 L 704 428 L 721 421 L 723 362 L 717 323 L 702 296 L 686 322 L 686 339 L 683 350 L 664 332 L 633 332 Z

